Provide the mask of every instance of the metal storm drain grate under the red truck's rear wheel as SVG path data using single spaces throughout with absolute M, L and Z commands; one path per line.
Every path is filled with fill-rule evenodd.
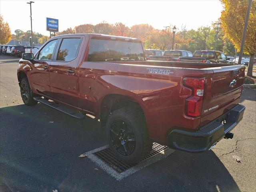
M 146 158 L 144 158 L 142 161 L 145 161 L 148 158 L 155 156 L 167 149 L 168 149 L 167 146 L 163 146 L 158 143 L 153 143 L 152 150 L 151 150 L 150 154 L 148 154 L 148 156 Z M 137 164 L 140 164 L 140 162 L 142 162 L 142 161 L 140 161 L 137 164 L 128 164 L 128 163 L 120 160 L 118 157 L 116 157 L 113 154 L 113 152 L 110 150 L 110 148 L 105 148 L 103 150 L 95 152 L 94 155 L 96 155 L 98 158 L 100 158 L 100 160 L 102 160 L 103 162 L 105 162 L 106 164 L 111 166 L 114 170 L 116 170 L 119 173 L 124 172 L 124 171 L 128 170 L 129 168 L 131 168 Z

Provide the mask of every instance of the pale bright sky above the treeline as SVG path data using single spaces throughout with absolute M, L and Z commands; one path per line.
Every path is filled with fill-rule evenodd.
M 30 0 L 0 0 L 0 14 L 9 23 L 12 34 L 16 29 L 30 30 Z M 33 0 L 32 26 L 34 32 L 44 35 L 46 17 L 59 20 L 59 31 L 80 24 L 122 22 L 126 26 L 150 24 L 154 28 L 176 25 L 178 29 L 197 29 L 210 26 L 222 11 L 219 0 Z

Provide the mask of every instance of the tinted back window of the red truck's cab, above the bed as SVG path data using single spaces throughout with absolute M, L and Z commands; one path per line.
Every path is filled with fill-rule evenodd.
M 144 60 L 141 43 L 122 40 L 91 39 L 88 61 Z

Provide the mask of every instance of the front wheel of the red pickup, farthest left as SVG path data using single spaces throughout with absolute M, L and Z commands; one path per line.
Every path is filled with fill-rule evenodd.
M 33 99 L 34 94 L 30 89 L 27 78 L 23 78 L 20 82 L 20 94 L 25 105 L 33 106 L 37 104 L 37 101 Z

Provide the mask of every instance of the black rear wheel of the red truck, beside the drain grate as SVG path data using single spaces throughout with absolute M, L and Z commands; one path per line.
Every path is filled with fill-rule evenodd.
M 106 123 L 106 136 L 112 152 L 130 164 L 143 160 L 152 149 L 144 115 L 134 108 L 112 112 Z

